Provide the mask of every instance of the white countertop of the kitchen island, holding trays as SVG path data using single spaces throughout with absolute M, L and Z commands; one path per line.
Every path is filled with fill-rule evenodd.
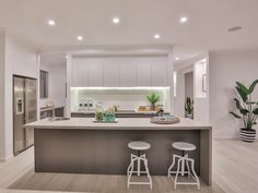
M 39 120 L 25 124 L 34 129 L 78 129 L 78 130 L 211 130 L 211 125 L 180 118 L 175 124 L 154 124 L 150 118 L 119 118 L 117 123 L 96 123 L 93 118 L 71 118 L 64 121 Z

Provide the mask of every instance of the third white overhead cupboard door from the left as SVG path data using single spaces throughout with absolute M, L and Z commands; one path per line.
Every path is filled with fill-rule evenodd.
M 104 86 L 119 86 L 119 63 L 117 60 L 106 60 L 103 64 Z

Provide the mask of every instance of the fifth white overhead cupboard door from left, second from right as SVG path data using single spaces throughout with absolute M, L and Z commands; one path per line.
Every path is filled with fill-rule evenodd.
M 149 59 L 141 58 L 137 64 L 137 86 L 152 86 L 152 70 Z

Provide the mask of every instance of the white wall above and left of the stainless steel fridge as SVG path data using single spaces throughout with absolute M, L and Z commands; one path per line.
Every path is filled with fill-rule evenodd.
M 4 154 L 3 159 L 13 156 L 13 74 L 38 79 L 37 50 L 13 36 L 5 35 L 4 61 Z

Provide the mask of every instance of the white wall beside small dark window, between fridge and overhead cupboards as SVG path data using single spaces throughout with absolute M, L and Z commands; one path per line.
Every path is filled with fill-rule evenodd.
M 48 101 L 52 101 L 55 107 L 64 107 L 66 105 L 66 64 L 40 64 L 40 70 L 49 74 L 48 98 L 39 100 L 39 107 L 46 107 Z

